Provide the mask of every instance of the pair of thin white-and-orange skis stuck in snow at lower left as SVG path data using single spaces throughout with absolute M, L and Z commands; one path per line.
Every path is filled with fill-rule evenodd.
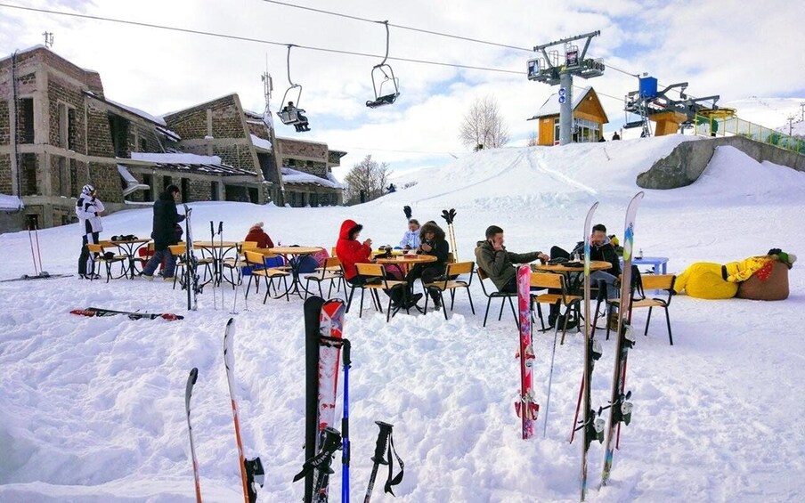
M 235 357 L 232 351 L 235 338 L 235 320 L 230 318 L 226 324 L 224 333 L 224 365 L 226 367 L 226 381 L 229 385 L 230 399 L 232 402 L 232 420 L 235 426 L 235 439 L 238 443 L 238 460 L 240 464 L 240 479 L 243 483 L 243 499 L 245 503 L 255 503 L 257 500 L 256 484 L 263 487 L 265 471 L 260 458 L 247 459 L 243 454 L 243 442 L 240 439 L 240 412 L 238 402 L 235 399 Z M 192 369 L 187 378 L 187 386 L 184 391 L 184 409 L 187 415 L 187 428 L 190 434 L 190 450 L 193 463 L 193 478 L 195 479 L 196 502 L 201 503 L 201 483 L 199 479 L 199 462 L 196 458 L 196 449 L 193 442 L 193 427 L 191 424 L 191 396 L 193 386 L 199 378 L 199 369 Z

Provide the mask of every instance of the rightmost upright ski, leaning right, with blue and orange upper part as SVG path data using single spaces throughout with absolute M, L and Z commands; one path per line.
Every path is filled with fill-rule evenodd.
M 615 364 L 612 378 L 612 394 L 609 405 L 600 410 L 609 409 L 609 423 L 606 428 L 606 451 L 604 469 L 601 472 L 601 485 L 609 482 L 612 474 L 612 458 L 614 455 L 615 430 L 621 422 L 629 425 L 631 420 L 631 403 L 627 402 L 631 392 L 623 392 L 624 371 L 626 370 L 626 356 L 634 345 L 635 339 L 629 322 L 625 319 L 626 313 L 631 310 L 631 258 L 634 250 L 635 216 L 638 206 L 643 199 L 643 192 L 638 192 L 631 199 L 626 208 L 626 224 L 623 230 L 623 272 L 621 277 L 621 298 L 618 303 L 618 330 L 615 342 Z

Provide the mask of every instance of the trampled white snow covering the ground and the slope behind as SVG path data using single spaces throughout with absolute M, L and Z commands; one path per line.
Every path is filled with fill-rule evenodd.
M 461 260 L 473 258 L 476 240 L 492 223 L 504 228 L 511 251 L 572 247 L 595 200 L 601 203 L 596 221 L 622 236 L 625 205 L 638 191 L 635 176 L 681 141 L 670 136 L 484 151 L 411 174 L 416 186 L 359 207 L 193 204 L 194 229 L 199 239 L 210 220 L 223 220 L 224 239 L 242 239 L 252 223 L 263 221 L 274 242 L 329 248 L 349 217 L 363 223 L 362 238 L 378 246 L 402 236 L 404 205 L 420 221 L 439 223 L 442 209 L 455 207 Z M 635 245 L 646 256 L 670 257 L 671 272 L 770 247 L 805 257 L 803 209 L 805 174 L 720 148 L 697 183 L 646 191 Z M 150 221 L 147 208 L 110 215 L 103 236 L 147 236 Z M 79 235 L 76 225 L 40 231 L 46 270 L 75 272 Z M 0 277 L 33 272 L 27 232 L 0 235 L 0 247 Z M 673 346 L 657 313 L 660 319 L 631 352 L 627 387 L 635 411 L 622 430 L 612 483 L 600 491 L 603 449 L 591 447 L 590 500 L 805 500 L 801 263 L 790 272 L 792 295 L 783 302 L 673 297 Z M 476 315 L 459 294 L 448 321 L 430 312 L 398 315 L 388 324 L 371 310 L 360 320 L 356 310 L 347 314 L 354 360 L 353 501 L 362 500 L 369 478 L 375 420 L 394 424 L 405 478 L 396 499 L 379 483 L 374 501 L 578 499 L 581 445 L 567 439 L 581 337 L 557 347 L 547 438 L 524 442 L 513 407 L 519 387 L 515 325 L 504 318 L 483 329 L 485 298 L 477 284 L 472 292 Z M 223 293 L 231 304 L 232 290 Z M 223 360 L 230 307 L 214 311 L 212 291 L 199 297 L 198 312 L 183 312 L 184 293 L 156 281 L 20 281 L 0 283 L 0 296 L 0 500 L 193 501 L 183 403 L 192 367 L 199 368 L 192 418 L 202 494 L 205 501 L 240 500 Z M 186 318 L 69 314 L 90 305 L 183 312 Z M 291 478 L 304 461 L 302 302 L 264 305 L 250 296 L 248 311 L 242 298 L 238 310 L 241 431 L 247 454 L 261 455 L 267 471 L 258 500 L 298 501 L 303 488 Z M 635 314 L 639 333 L 645 320 L 646 312 Z M 552 344 L 552 334 L 535 334 L 535 388 L 543 408 Z M 609 394 L 613 341 L 604 342 L 604 350 L 592 381 L 596 406 Z M 334 501 L 339 465 L 336 470 Z

